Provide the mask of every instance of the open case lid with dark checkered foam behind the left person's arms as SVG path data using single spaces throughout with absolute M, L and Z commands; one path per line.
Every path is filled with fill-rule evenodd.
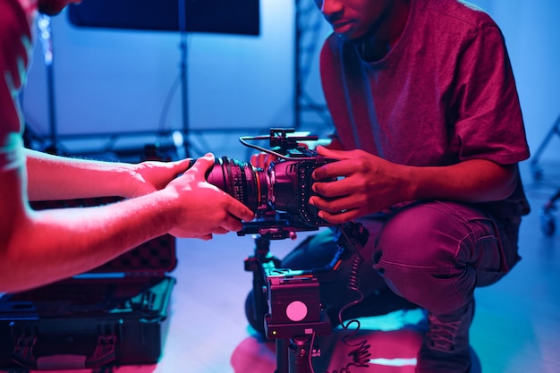
M 47 208 L 83 208 L 102 206 L 118 202 L 119 197 L 101 197 L 91 199 L 65 199 L 33 201 L 30 206 L 41 210 Z M 94 268 L 89 274 L 121 273 L 127 275 L 164 275 L 171 272 L 177 265 L 175 253 L 175 238 L 170 234 L 156 237 L 140 246 L 129 250 L 123 255 Z

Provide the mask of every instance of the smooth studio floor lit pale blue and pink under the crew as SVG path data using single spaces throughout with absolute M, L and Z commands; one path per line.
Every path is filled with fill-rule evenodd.
M 522 224 L 522 261 L 501 282 L 476 292 L 471 345 L 485 373 L 560 371 L 560 233 L 543 233 L 539 216 L 539 210 L 560 188 L 560 166 L 542 165 L 542 170 L 541 180 L 536 181 L 529 164 L 522 165 L 532 206 L 530 216 Z M 271 251 L 282 257 L 300 241 L 301 237 L 296 242 L 272 242 Z M 252 238 L 233 233 L 216 236 L 209 242 L 179 240 L 178 266 L 172 274 L 177 284 L 160 362 L 112 370 L 273 373 L 275 344 L 256 338 L 244 316 L 252 276 L 243 270 L 243 260 L 252 253 Z M 369 333 L 371 344 L 369 366 L 338 371 L 413 372 L 420 339 L 418 334 L 400 329 L 399 323 L 413 323 L 416 317 L 418 314 L 409 312 L 363 320 L 362 329 Z M 317 365 L 322 367 L 316 367 L 318 373 L 332 373 L 345 366 L 341 335 L 335 331 L 333 336 L 320 340 L 323 354 L 318 358 Z M 395 362 L 401 366 L 395 367 Z M 103 371 L 107 370 L 111 369 Z

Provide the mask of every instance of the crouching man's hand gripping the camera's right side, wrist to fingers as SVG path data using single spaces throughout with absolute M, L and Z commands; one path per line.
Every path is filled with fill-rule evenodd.
M 321 210 L 318 216 L 329 223 L 344 223 L 406 200 L 403 166 L 363 150 L 317 150 L 322 156 L 339 159 L 313 172 L 313 179 L 318 181 L 313 184 L 313 191 L 319 196 L 311 197 L 310 204 Z M 333 177 L 342 179 L 320 182 Z

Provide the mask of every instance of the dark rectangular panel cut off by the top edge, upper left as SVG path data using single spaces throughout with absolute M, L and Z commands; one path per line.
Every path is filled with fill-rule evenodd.
M 68 8 L 79 27 L 253 36 L 259 15 L 259 0 L 85 0 Z

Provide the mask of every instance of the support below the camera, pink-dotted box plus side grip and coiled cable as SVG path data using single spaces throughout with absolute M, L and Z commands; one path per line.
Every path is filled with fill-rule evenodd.
M 245 270 L 253 274 L 253 298 L 248 307 L 262 318 L 267 339 L 276 340 L 275 373 L 313 373 L 311 358 L 320 356 L 315 337 L 330 335 L 332 328 L 321 303 L 319 284 L 324 277 L 335 276 L 344 260 L 353 262 L 348 288 L 361 295 L 360 250 L 369 232 L 356 222 L 333 229 L 338 250 L 325 267 L 282 268 L 281 261 L 270 253 L 270 241 L 262 236 L 255 238 L 254 255 L 245 259 Z

